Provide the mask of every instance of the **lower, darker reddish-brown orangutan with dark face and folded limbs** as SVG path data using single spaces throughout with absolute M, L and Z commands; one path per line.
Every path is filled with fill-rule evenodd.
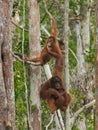
M 43 83 L 39 93 L 40 98 L 47 101 L 52 113 L 57 109 L 65 112 L 71 102 L 71 95 L 66 92 L 62 80 L 58 76 L 53 76 Z

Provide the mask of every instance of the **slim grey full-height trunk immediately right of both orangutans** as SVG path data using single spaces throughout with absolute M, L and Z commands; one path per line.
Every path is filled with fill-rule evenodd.
M 64 0 L 64 43 L 65 43 L 65 86 L 66 90 L 69 91 L 69 61 L 68 61 L 68 35 L 69 35 L 69 26 L 68 26 L 68 19 L 69 19 L 69 0 Z M 71 130 L 70 127 L 70 113 L 69 107 L 66 110 L 66 122 L 65 128 L 66 130 Z

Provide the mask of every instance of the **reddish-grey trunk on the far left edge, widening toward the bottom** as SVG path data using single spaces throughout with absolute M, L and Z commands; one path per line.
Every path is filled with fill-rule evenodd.
M 1 27 L 0 27 L 0 30 L 1 30 Z M 0 31 L 0 36 L 1 35 L 2 35 L 2 31 Z M 3 70 L 2 70 L 1 43 L 2 41 L 0 37 L 0 130 L 5 130 L 4 129 L 5 123 L 7 123 L 7 96 L 6 96 Z

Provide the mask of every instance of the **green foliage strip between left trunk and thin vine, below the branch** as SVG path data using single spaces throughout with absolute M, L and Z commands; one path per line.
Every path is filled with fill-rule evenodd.
M 19 130 L 26 130 L 26 102 L 25 102 L 25 87 L 23 79 L 23 68 L 20 62 L 14 63 L 15 72 L 15 103 L 16 103 L 16 125 Z

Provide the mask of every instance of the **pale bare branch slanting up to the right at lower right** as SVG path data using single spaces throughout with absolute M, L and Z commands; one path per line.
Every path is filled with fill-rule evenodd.
M 84 105 L 82 108 L 80 108 L 77 112 L 74 113 L 73 117 L 71 118 L 71 126 L 73 125 L 73 123 L 75 122 L 76 118 L 78 117 L 78 115 L 84 110 L 84 109 L 88 109 L 89 107 L 93 106 L 95 104 L 95 100 L 91 101 L 90 103 Z

